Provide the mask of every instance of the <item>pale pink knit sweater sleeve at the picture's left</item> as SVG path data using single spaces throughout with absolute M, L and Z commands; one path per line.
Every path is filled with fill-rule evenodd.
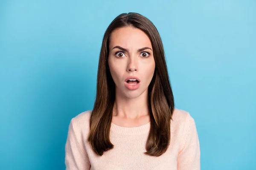
M 90 170 L 90 161 L 78 130 L 74 118 L 71 119 L 65 144 L 66 170 Z

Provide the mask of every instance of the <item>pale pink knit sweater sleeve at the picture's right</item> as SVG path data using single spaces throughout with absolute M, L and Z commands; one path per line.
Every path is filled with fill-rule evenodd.
M 200 146 L 195 120 L 186 116 L 183 136 L 177 156 L 177 170 L 200 170 Z

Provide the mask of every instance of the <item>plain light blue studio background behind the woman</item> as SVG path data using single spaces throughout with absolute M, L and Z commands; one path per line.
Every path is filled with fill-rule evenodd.
M 71 118 L 93 108 L 103 34 L 124 12 L 160 32 L 202 170 L 256 169 L 255 0 L 0 1 L 0 169 L 65 169 Z

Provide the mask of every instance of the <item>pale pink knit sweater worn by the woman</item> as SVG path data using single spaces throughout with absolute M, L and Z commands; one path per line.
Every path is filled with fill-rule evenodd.
M 198 133 L 188 112 L 175 108 L 170 145 L 157 157 L 144 154 L 150 122 L 139 127 L 121 127 L 111 122 L 110 140 L 114 147 L 102 156 L 96 155 L 87 141 L 91 111 L 70 121 L 65 144 L 66 170 L 200 170 Z

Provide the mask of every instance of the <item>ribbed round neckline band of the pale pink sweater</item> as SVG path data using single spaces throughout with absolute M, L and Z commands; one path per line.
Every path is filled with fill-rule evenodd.
M 119 135 L 140 135 L 140 134 L 148 133 L 149 128 L 150 128 L 150 122 L 138 127 L 122 127 L 111 122 L 110 130 L 113 133 L 116 133 Z

